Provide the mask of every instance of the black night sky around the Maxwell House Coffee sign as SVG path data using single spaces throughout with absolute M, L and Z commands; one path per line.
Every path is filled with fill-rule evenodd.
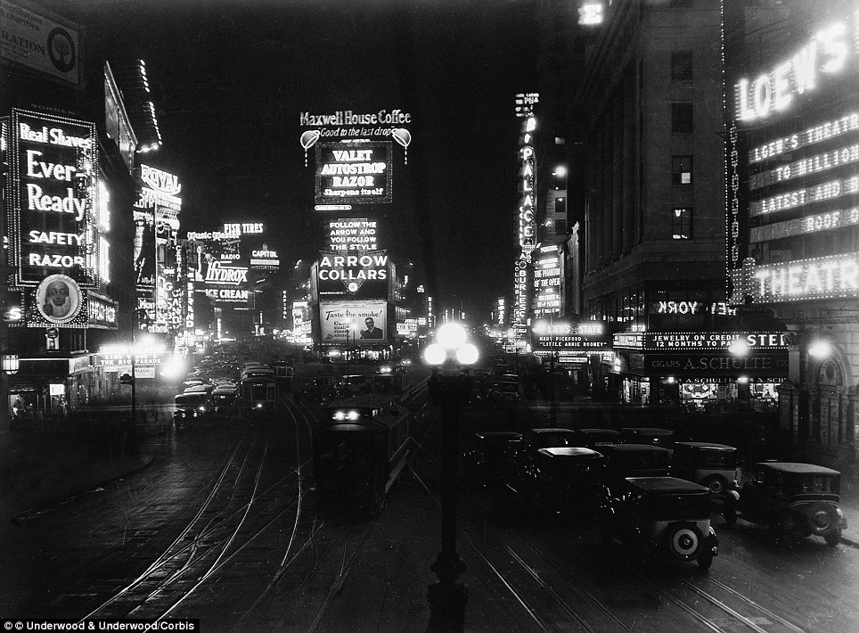
M 381 246 L 479 321 L 511 292 L 513 99 L 536 89 L 533 0 L 46 4 L 91 53 L 145 60 L 165 144 L 145 160 L 180 177 L 183 229 L 262 221 L 284 263 L 314 258 L 323 218 L 299 113 L 398 108 L 413 116 L 408 165 L 395 151 L 393 202 L 367 209 L 384 214 Z

